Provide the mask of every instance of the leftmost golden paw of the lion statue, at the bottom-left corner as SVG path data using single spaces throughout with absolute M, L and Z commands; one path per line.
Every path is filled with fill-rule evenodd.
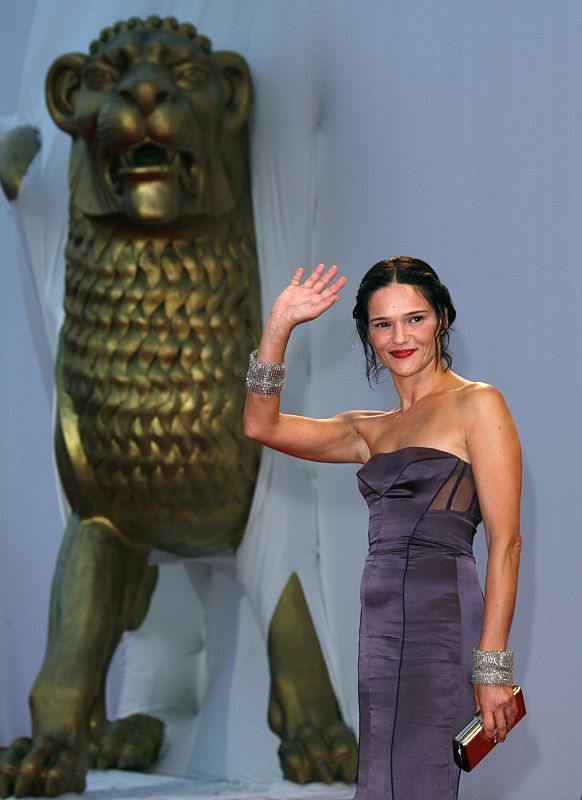
M 85 788 L 87 761 L 50 736 L 15 739 L 0 758 L 0 797 L 56 797 Z

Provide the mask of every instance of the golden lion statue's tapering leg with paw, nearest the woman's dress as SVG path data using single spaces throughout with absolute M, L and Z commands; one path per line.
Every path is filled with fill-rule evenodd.
M 269 667 L 269 725 L 281 738 L 279 758 L 285 777 L 297 783 L 354 781 L 356 740 L 342 720 L 296 573 L 271 619 Z

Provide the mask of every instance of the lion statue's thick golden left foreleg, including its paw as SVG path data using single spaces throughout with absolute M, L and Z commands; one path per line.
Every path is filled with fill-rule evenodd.
M 82 791 L 90 715 L 147 567 L 106 519 L 72 515 L 51 593 L 45 658 L 30 696 L 32 740 L 0 762 L 0 796 Z

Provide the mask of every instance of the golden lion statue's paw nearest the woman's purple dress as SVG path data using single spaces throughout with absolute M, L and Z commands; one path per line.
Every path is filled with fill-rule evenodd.
M 356 739 L 341 720 L 302 725 L 293 739 L 281 742 L 279 760 L 284 776 L 295 783 L 353 783 L 358 774 Z

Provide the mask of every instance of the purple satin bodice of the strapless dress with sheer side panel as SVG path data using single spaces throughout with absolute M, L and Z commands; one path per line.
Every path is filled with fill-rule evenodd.
M 370 510 L 370 555 L 473 555 L 481 522 L 471 465 L 431 447 L 376 453 L 358 471 Z

